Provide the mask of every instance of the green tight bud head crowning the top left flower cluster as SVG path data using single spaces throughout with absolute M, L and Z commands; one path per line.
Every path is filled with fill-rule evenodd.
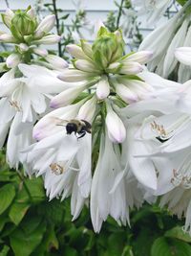
M 36 20 L 27 12 L 17 11 L 11 19 L 11 33 L 21 40 L 24 35 L 32 35 L 36 29 Z

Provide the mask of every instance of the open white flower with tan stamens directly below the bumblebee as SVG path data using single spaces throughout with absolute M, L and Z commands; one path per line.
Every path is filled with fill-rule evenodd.
M 72 214 L 79 215 L 91 189 L 91 140 L 86 134 L 79 140 L 66 129 L 49 135 L 23 151 L 23 163 L 29 175 L 43 175 L 50 199 L 72 195 Z

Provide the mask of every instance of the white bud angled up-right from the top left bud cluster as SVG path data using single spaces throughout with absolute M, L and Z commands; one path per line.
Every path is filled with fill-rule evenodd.
M 38 25 L 34 36 L 35 38 L 38 37 L 42 37 L 43 35 L 46 35 L 47 33 L 49 33 L 54 26 L 54 22 L 55 22 L 55 15 L 48 15 L 46 16 Z

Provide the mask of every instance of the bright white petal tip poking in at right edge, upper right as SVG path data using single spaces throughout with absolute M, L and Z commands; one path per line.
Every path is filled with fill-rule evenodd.
M 183 64 L 191 66 L 191 47 L 180 47 L 175 51 L 175 57 Z

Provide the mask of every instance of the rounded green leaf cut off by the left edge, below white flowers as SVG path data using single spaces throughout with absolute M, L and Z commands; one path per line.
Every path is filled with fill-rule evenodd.
M 11 204 L 15 197 L 15 188 L 12 184 L 4 185 L 0 189 L 0 214 L 2 214 Z

